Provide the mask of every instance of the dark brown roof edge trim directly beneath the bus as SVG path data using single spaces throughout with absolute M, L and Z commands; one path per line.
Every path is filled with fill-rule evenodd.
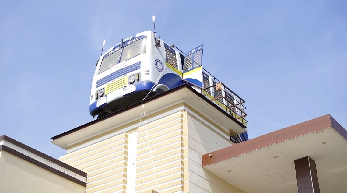
M 194 90 L 194 89 L 193 89 L 191 86 L 189 86 L 188 84 L 183 84 L 183 85 L 177 86 L 177 87 L 175 87 L 174 89 L 171 89 L 171 90 L 168 90 L 168 91 L 166 91 L 166 92 L 163 92 L 162 94 L 155 95 L 155 96 L 153 96 L 153 97 L 150 97 L 150 98 L 148 98 L 148 99 L 145 99 L 145 100 L 144 100 L 144 103 L 147 103 L 147 102 L 150 102 L 150 101 L 152 101 L 152 100 L 158 99 L 158 98 L 160 98 L 160 97 L 163 97 L 163 96 L 165 96 L 165 95 L 171 94 L 171 93 L 176 92 L 176 91 L 178 91 L 178 90 L 180 90 L 180 89 L 183 89 L 183 88 L 186 88 L 186 89 L 192 91 L 192 92 L 195 93 L 197 96 L 199 96 L 200 98 L 202 98 L 202 99 L 205 100 L 206 102 L 210 103 L 215 109 L 218 109 L 221 113 L 223 113 L 224 115 L 230 117 L 230 119 L 232 119 L 233 121 L 235 121 L 239 126 L 241 126 L 242 128 L 246 128 L 246 126 L 244 126 L 242 123 L 240 123 L 238 120 L 236 120 L 233 116 L 230 116 L 227 112 L 225 112 L 225 111 L 223 111 L 221 108 L 217 107 L 212 101 L 210 101 L 209 99 L 207 99 L 206 97 L 204 97 L 202 94 L 197 93 L 197 91 Z M 73 128 L 73 129 L 71 129 L 71 130 L 69 130 L 69 131 L 66 131 L 66 132 L 64 132 L 64 133 L 61 133 L 61 134 L 56 135 L 56 136 L 54 136 L 54 137 L 51 137 L 51 139 L 52 139 L 52 140 L 59 139 L 60 137 L 64 137 L 64 136 L 69 135 L 69 134 L 71 134 L 71 133 L 74 133 L 74 132 L 76 132 L 76 131 L 78 131 L 78 130 L 81 130 L 81 129 L 83 129 L 83 128 L 86 128 L 86 127 L 88 127 L 88 126 L 90 126 L 90 125 L 99 123 L 100 121 L 103 121 L 103 120 L 105 120 L 105 119 L 108 119 L 108 118 L 110 118 L 110 117 L 112 117 L 112 116 L 116 116 L 117 114 L 119 114 L 119 113 L 121 113 L 121 112 L 127 111 L 127 110 L 129 110 L 129 109 L 131 109 L 131 108 L 135 108 L 135 107 L 138 107 L 138 106 L 141 106 L 141 105 L 142 105 L 142 102 L 135 103 L 135 104 L 133 104 L 133 105 L 131 105 L 131 106 L 128 106 L 128 107 L 123 108 L 123 109 L 120 109 L 120 110 L 118 110 L 118 111 L 116 111 L 116 112 L 112 112 L 111 114 L 109 114 L 109 115 L 107 115 L 107 116 L 101 117 L 101 118 L 99 118 L 99 119 L 95 119 L 95 120 L 93 120 L 93 121 L 91 121 L 91 122 L 89 122 L 89 123 L 86 123 L 86 124 L 84 124 L 84 125 L 81 125 L 81 126 L 78 126 L 78 127 L 76 127 L 76 128 Z

